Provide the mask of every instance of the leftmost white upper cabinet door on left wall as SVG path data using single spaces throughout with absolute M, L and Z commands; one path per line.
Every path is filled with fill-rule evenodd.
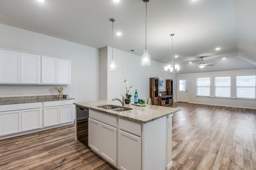
M 20 53 L 0 50 L 0 83 L 20 83 Z

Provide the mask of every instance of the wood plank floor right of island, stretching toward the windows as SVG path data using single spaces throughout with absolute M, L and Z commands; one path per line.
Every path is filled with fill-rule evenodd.
M 171 170 L 255 170 L 256 110 L 175 102 Z

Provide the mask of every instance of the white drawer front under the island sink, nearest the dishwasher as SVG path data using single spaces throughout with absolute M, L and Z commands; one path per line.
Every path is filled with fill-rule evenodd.
M 117 127 L 117 118 L 114 116 L 110 116 L 94 110 L 89 110 L 89 117 L 92 119 L 101 121 L 103 123 L 106 123 L 107 125 Z

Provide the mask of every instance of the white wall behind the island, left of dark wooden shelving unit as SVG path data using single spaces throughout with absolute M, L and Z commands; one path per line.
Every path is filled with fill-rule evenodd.
M 108 72 L 107 79 L 107 99 L 119 98 L 120 94 L 125 96 L 126 89 L 124 88 L 124 79 L 133 85 L 129 94 L 132 95 L 131 102 L 134 102 L 135 90 L 138 91 L 140 99 L 147 100 L 149 98 L 149 78 L 162 76 L 164 77 L 164 91 L 166 89 L 166 79 L 170 79 L 174 74 L 167 74 L 164 72 L 165 64 L 151 60 L 150 66 L 141 66 L 141 56 L 133 55 L 131 53 L 114 49 L 114 61 L 116 63 L 116 71 L 109 70 L 109 64 L 112 58 L 112 47 L 108 48 Z M 101 49 L 102 50 L 102 49 Z M 100 50 L 100 51 L 101 51 Z M 150 52 L 150 50 L 149 50 Z M 143 53 L 143 51 L 142 51 Z M 101 57 L 100 57 L 101 59 Z M 106 82 L 100 82 L 106 83 Z

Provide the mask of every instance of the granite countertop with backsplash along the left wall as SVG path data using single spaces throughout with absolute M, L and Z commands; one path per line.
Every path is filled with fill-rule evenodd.
M 23 103 L 34 103 L 34 102 L 50 102 L 50 101 L 60 101 L 60 100 L 74 100 L 74 98 L 70 98 L 70 97 L 67 97 L 66 99 L 57 99 L 57 97 L 58 95 L 3 97 L 3 98 L 0 98 L 0 105 L 23 104 Z

